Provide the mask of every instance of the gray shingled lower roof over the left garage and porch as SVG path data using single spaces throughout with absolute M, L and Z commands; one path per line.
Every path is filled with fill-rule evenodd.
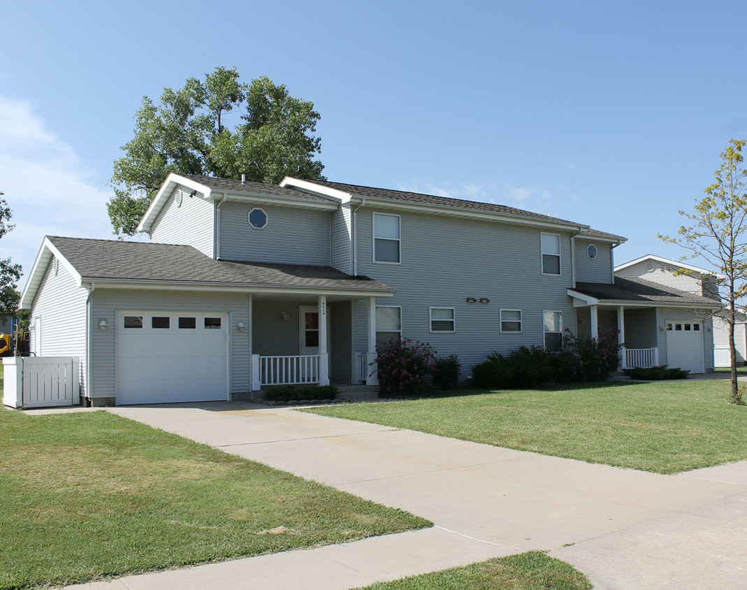
M 332 267 L 214 260 L 192 246 L 165 243 L 47 239 L 84 280 L 394 292 L 382 282 Z

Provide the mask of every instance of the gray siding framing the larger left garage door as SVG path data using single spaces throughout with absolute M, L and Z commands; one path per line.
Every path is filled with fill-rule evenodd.
M 91 358 L 91 397 L 115 397 L 117 359 L 117 311 L 195 311 L 231 314 L 229 362 L 232 393 L 244 393 L 249 385 L 249 334 L 238 331 L 239 322 L 249 324 L 249 297 L 246 294 L 201 293 L 199 291 L 155 291 L 97 289 L 93 292 L 93 321 L 106 320 L 110 328 L 93 330 Z

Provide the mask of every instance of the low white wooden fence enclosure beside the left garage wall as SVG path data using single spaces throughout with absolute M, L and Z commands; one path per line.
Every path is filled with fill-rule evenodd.
M 81 402 L 78 357 L 13 356 L 2 361 L 5 406 L 49 408 Z

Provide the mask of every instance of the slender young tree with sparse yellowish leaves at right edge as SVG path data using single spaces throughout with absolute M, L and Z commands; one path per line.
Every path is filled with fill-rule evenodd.
M 721 154 L 721 166 L 714 173 L 713 184 L 696 200 L 692 213 L 680 211 L 687 225 L 678 236 L 660 235 L 692 252 L 692 258 L 704 258 L 726 278 L 722 299 L 726 304 L 723 317 L 729 328 L 731 357 L 730 403 L 742 400 L 737 383 L 737 349 L 734 346 L 734 323 L 737 305 L 747 295 L 747 170 L 743 167 L 745 140 L 730 140 Z

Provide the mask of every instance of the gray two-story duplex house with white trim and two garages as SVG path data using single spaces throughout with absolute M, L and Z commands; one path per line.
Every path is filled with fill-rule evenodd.
M 624 364 L 645 366 L 672 356 L 665 326 L 705 342 L 698 318 L 720 307 L 616 279 L 624 237 L 400 190 L 171 174 L 138 229 L 149 243 L 46 237 L 22 294 L 32 350 L 80 358 L 93 405 L 375 385 L 376 345 L 400 337 L 459 355 L 467 376 L 492 351 L 616 329 Z

